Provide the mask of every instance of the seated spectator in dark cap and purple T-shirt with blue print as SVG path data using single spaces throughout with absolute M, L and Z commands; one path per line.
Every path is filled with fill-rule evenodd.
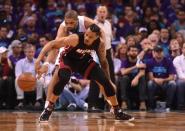
M 147 63 L 149 106 L 151 109 L 155 108 L 155 96 L 163 91 L 166 93 L 166 111 L 169 111 L 176 91 L 176 71 L 172 61 L 164 57 L 163 48 L 160 45 L 154 47 L 153 56 L 154 58 Z

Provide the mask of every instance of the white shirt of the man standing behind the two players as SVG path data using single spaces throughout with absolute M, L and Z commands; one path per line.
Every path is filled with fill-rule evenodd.
M 105 49 L 108 50 L 111 48 L 111 40 L 113 38 L 111 23 L 108 20 L 105 20 L 104 23 L 98 22 L 96 19 L 95 19 L 95 21 L 96 21 L 96 24 L 98 26 L 100 26 L 105 33 L 105 41 L 106 41 L 105 42 Z

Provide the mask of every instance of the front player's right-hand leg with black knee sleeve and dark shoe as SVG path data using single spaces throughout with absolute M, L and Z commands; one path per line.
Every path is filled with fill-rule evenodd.
M 118 120 L 134 120 L 134 117 L 125 114 L 121 111 L 121 108 L 118 105 L 116 91 L 112 82 L 105 76 L 103 70 L 98 66 L 95 65 L 90 74 L 89 78 L 95 80 L 99 87 L 102 94 L 106 98 L 107 102 L 112 106 L 113 113 L 115 115 L 115 119 Z

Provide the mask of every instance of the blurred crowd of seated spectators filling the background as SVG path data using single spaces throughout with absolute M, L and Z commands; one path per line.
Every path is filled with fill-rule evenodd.
M 154 103 L 159 100 L 167 111 L 185 110 L 185 0 L 0 0 L 0 109 L 43 108 L 47 82 L 37 82 L 37 93 L 21 92 L 16 78 L 33 72 L 34 58 L 55 39 L 66 11 L 94 19 L 100 4 L 107 7 L 112 25 L 122 109 L 163 107 Z M 105 110 L 101 94 L 88 103 L 89 81 L 77 78 L 71 79 L 56 109 Z

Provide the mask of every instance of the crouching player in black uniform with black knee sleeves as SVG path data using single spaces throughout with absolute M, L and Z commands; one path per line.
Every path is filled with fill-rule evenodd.
M 60 54 L 60 69 L 54 75 L 58 75 L 58 82 L 54 85 L 54 90 L 51 94 L 46 108 L 41 113 L 39 121 L 47 122 L 54 109 L 54 103 L 63 91 L 64 86 L 68 83 L 71 73 L 78 72 L 87 79 L 95 80 L 106 100 L 112 106 L 113 114 L 116 120 L 134 120 L 134 117 L 123 113 L 118 106 L 115 88 L 110 80 L 108 64 L 106 60 L 105 43 L 100 39 L 100 28 L 93 24 L 85 33 L 78 33 L 62 37 L 58 40 L 50 41 L 41 51 L 37 58 L 39 63 L 45 54 L 53 48 L 65 47 L 65 50 Z M 101 64 L 100 66 L 94 62 L 89 54 L 95 50 Z M 39 73 L 38 65 L 35 65 L 36 72 Z

